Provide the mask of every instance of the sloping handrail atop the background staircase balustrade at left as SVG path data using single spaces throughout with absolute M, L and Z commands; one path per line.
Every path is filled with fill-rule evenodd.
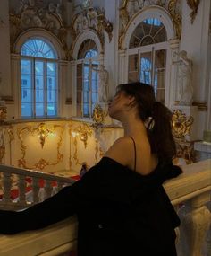
M 58 181 L 58 182 L 63 182 L 63 183 L 69 183 L 72 185 L 75 180 L 72 178 L 65 178 L 65 177 L 60 177 L 56 176 L 55 174 L 50 174 L 46 172 L 40 172 L 40 171 L 33 171 L 30 169 L 23 169 L 23 168 L 17 168 L 11 165 L 4 165 L 0 164 L 0 172 L 9 172 L 11 174 L 18 174 L 22 176 L 29 176 L 29 177 L 35 177 L 43 180 L 48 180 L 48 181 Z

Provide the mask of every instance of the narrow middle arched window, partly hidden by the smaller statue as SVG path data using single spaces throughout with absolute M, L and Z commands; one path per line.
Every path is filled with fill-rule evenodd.
M 77 116 L 90 118 L 98 101 L 98 52 L 94 40 L 85 40 L 77 60 Z

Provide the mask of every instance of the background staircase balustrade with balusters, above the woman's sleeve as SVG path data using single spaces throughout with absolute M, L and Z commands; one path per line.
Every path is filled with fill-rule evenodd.
M 74 180 L 47 174 L 44 172 L 30 171 L 13 166 L 0 164 L 0 208 L 21 209 L 30 207 L 57 193 L 66 185 L 72 185 Z M 26 192 L 27 182 L 30 179 L 30 190 Z M 42 180 L 43 188 L 40 188 L 39 181 Z M 54 184 L 53 184 L 54 182 Z M 18 197 L 11 198 L 12 191 L 16 190 Z

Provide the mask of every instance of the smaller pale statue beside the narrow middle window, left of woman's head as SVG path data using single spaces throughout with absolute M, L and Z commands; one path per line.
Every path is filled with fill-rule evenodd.
M 92 67 L 93 70 L 97 71 L 99 75 L 99 84 L 98 84 L 98 102 L 107 102 L 107 86 L 108 86 L 108 72 L 105 69 L 105 66 L 100 64 L 99 68 Z

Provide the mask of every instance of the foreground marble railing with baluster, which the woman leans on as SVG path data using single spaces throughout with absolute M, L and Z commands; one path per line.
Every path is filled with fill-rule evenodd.
M 184 173 L 165 182 L 165 190 L 181 217 L 178 256 L 211 255 L 211 159 L 185 165 Z M 53 256 L 74 250 L 75 216 L 39 231 L 0 235 L 0 256 Z

